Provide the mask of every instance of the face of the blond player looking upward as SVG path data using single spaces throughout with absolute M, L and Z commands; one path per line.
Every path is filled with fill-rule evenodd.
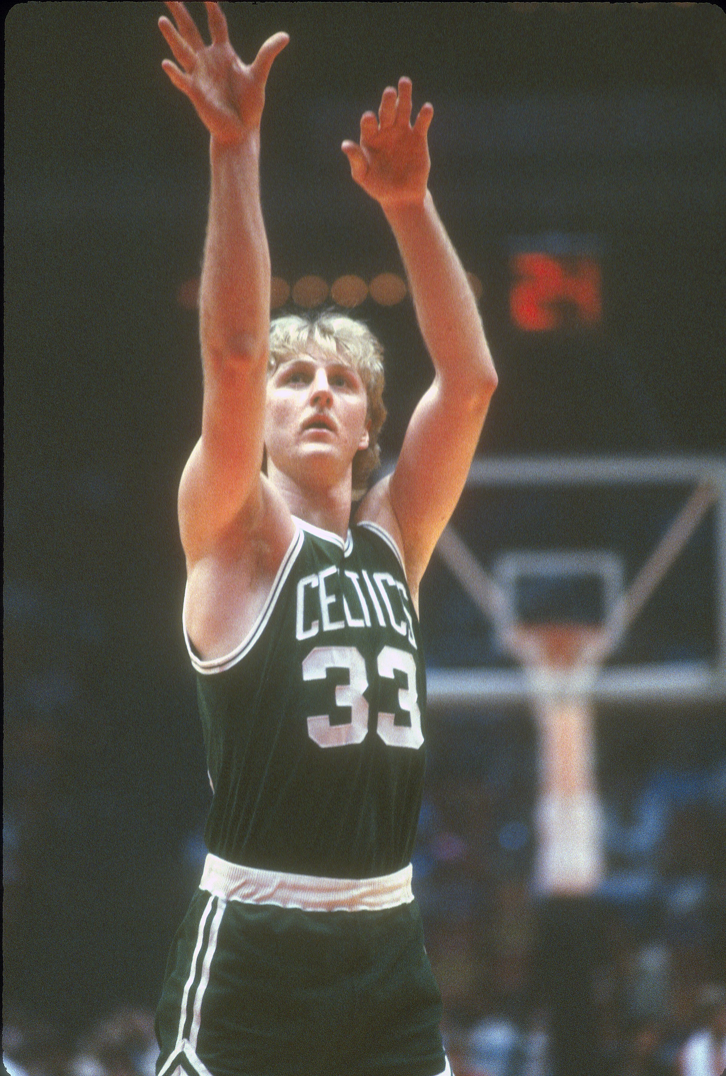
M 301 486 L 331 485 L 368 448 L 367 414 L 366 386 L 356 370 L 311 343 L 268 379 L 268 457 Z

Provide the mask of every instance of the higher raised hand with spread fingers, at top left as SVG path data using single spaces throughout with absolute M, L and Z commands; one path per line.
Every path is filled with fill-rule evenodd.
M 239 142 L 246 131 L 259 126 L 270 68 L 289 38 L 286 33 L 273 34 L 247 67 L 229 43 L 227 19 L 219 4 L 204 6 L 212 38 L 210 45 L 204 44 L 183 3 L 167 3 L 176 26 L 162 15 L 159 29 L 179 67 L 171 60 L 162 60 L 161 67 L 174 86 L 189 98 L 215 139 Z

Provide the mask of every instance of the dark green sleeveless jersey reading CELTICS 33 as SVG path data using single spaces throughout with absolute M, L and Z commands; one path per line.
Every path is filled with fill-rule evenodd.
M 400 554 L 361 523 L 296 535 L 247 637 L 197 671 L 214 790 L 204 837 L 233 863 L 368 878 L 411 858 L 426 678 Z

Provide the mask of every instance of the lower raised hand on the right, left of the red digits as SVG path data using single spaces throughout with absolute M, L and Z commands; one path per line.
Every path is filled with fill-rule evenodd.
M 360 118 L 360 144 L 345 141 L 341 146 L 355 182 L 384 209 L 421 204 L 426 195 L 433 108 L 424 104 L 412 127 L 411 88 L 410 79 L 398 80 L 398 95 L 387 86 L 378 118 L 373 112 Z

